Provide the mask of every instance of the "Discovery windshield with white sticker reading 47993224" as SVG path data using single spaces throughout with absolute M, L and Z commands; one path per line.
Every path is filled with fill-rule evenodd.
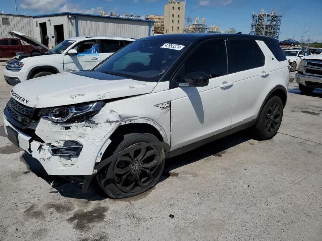
M 138 40 L 113 54 L 95 71 L 157 82 L 188 45 L 184 41 Z

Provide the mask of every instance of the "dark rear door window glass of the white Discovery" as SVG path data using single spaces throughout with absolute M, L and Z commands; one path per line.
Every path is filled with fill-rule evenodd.
M 264 65 L 265 57 L 252 39 L 229 40 L 229 73 L 254 69 Z

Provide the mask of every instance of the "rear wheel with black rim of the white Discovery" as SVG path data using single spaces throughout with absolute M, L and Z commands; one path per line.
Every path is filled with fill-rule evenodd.
M 255 125 L 255 135 L 259 140 L 274 137 L 283 118 L 283 103 L 278 96 L 271 97 L 264 105 Z

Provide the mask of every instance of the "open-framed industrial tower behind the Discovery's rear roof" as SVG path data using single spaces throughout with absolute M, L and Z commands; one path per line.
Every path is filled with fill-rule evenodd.
M 282 16 L 277 15 L 275 11 L 265 13 L 264 9 L 262 9 L 259 14 L 253 13 L 250 34 L 278 39 L 281 20 Z

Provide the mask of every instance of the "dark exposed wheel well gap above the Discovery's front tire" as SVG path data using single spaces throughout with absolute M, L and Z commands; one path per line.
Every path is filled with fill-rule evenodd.
M 160 132 L 150 124 L 147 123 L 129 123 L 119 126 L 111 135 L 110 140 L 112 141 L 111 144 L 105 150 L 102 159 L 104 160 L 107 158 L 118 144 L 123 140 L 124 134 L 128 133 L 150 133 L 156 136 L 160 141 L 163 141 L 163 137 Z

